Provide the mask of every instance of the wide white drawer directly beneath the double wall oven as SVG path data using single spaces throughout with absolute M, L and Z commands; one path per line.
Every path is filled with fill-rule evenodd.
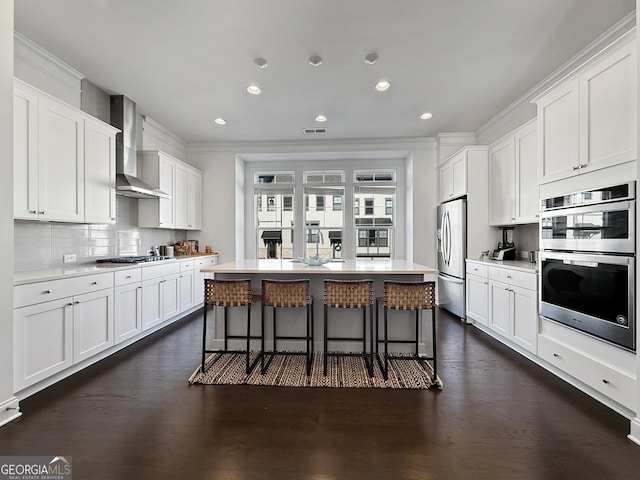
M 544 335 L 538 335 L 538 356 L 620 405 L 635 409 L 633 377 Z

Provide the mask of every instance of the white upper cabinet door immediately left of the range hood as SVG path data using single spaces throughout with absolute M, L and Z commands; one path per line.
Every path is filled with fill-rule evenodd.
M 85 120 L 85 221 L 116 221 L 115 132 L 98 121 Z

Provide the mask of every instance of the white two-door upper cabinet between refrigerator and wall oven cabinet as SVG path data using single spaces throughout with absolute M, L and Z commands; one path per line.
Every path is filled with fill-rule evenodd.
M 489 149 L 489 223 L 538 221 L 537 137 L 535 120 Z

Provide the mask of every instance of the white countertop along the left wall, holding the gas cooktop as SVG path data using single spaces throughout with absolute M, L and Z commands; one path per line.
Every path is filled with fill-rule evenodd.
M 92 275 L 94 273 L 113 272 L 115 270 L 125 270 L 127 268 L 149 267 L 152 265 L 162 265 L 182 260 L 193 260 L 211 255 L 191 255 L 185 257 L 174 257 L 168 260 L 159 260 L 146 263 L 81 263 L 69 267 L 48 268 L 43 270 L 28 270 L 25 272 L 14 272 L 13 284 L 24 285 L 27 283 L 41 282 L 45 280 L 58 280 L 61 278 L 80 277 Z

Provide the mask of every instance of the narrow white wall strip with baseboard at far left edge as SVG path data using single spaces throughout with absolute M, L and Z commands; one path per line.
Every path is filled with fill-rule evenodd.
M 0 0 L 0 425 L 17 415 L 13 396 L 13 0 Z

